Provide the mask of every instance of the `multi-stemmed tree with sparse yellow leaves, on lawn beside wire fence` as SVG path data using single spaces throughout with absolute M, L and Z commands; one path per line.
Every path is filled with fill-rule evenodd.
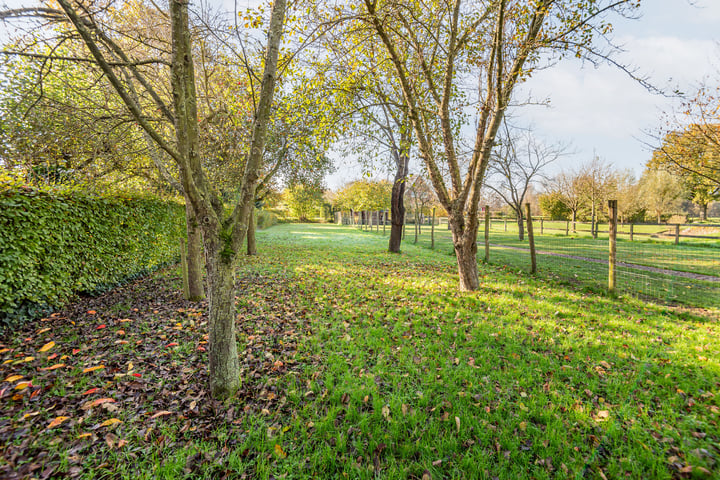
M 363 0 L 363 20 L 393 66 L 420 156 L 448 212 L 461 290 L 479 286 L 480 190 L 515 87 L 529 77 L 543 50 L 582 55 L 595 29 L 607 28 L 593 20 L 632 3 Z M 464 80 L 479 86 L 477 98 L 468 97 Z M 467 122 L 475 126 L 474 138 L 465 145 L 460 126 L 470 113 L 476 116 Z M 430 127 L 435 124 L 437 131 Z

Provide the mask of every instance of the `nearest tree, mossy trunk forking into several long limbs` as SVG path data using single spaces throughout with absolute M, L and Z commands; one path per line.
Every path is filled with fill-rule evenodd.
M 254 108 L 249 151 L 238 194 L 231 213 L 225 214 L 220 192 L 209 181 L 200 148 L 198 99 L 188 21 L 188 5 L 171 0 L 169 12 L 172 52 L 169 86 L 174 111 L 170 112 L 157 91 L 147 81 L 141 65 L 108 32 L 113 32 L 114 9 L 104 5 L 76 4 L 57 0 L 60 9 L 33 9 L 36 14 L 69 22 L 73 35 L 84 43 L 89 57 L 102 70 L 140 128 L 176 163 L 187 203 L 203 234 L 209 290 L 210 390 L 214 397 L 231 396 L 240 385 L 234 315 L 234 264 L 247 231 L 255 187 L 275 89 L 279 45 L 285 19 L 285 0 L 275 0 L 270 16 L 264 68 Z M 22 13 L 22 12 L 21 12 Z M 12 14 L 10 14 L 11 16 Z M 7 17 L 8 14 L 2 15 Z M 108 22 L 108 23 L 106 23 Z M 85 57 L 87 58 L 87 56 Z M 138 93 L 140 92 L 140 94 Z M 155 119 L 162 112 L 173 120 L 174 141 L 163 135 Z

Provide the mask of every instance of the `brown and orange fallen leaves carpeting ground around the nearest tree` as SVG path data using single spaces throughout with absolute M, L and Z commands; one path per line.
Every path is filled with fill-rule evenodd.
M 140 458 L 202 441 L 224 456 L 236 440 L 220 439 L 219 426 L 239 434 L 247 416 L 289 414 L 276 380 L 299 369 L 303 334 L 284 301 L 289 287 L 275 284 L 256 298 L 262 309 L 240 306 L 243 385 L 227 408 L 205 388 L 207 302 L 183 300 L 177 284 L 166 273 L 81 298 L 0 342 L 0 478 L 79 477 L 118 449 Z M 180 434 L 170 439 L 163 424 Z M 70 452 L 68 465 L 52 445 Z

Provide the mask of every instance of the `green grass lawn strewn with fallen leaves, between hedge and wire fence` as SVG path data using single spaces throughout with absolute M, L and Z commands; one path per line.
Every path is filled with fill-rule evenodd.
M 258 241 L 235 400 L 169 270 L 4 339 L 0 477 L 720 478 L 717 310 L 484 265 L 459 293 L 444 250 L 349 227 Z

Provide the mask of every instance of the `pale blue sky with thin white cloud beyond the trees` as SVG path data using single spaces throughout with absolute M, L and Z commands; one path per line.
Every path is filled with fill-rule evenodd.
M 713 74 L 720 81 L 720 0 L 692 3 L 643 0 L 640 18 L 618 18 L 614 43 L 624 52 L 615 59 L 667 91 L 692 92 Z M 595 68 L 574 58 L 536 73 L 517 93 L 516 98 L 547 98 L 550 106 L 517 109 L 516 123 L 532 127 L 545 143 L 569 145 L 569 153 L 548 167 L 548 175 L 577 168 L 598 155 L 639 178 L 652 155 L 648 132 L 657 131 L 663 113 L 678 105 L 677 98 L 649 92 L 616 67 Z M 362 175 L 351 162 L 338 161 L 337 168 L 328 178 L 330 188 Z

